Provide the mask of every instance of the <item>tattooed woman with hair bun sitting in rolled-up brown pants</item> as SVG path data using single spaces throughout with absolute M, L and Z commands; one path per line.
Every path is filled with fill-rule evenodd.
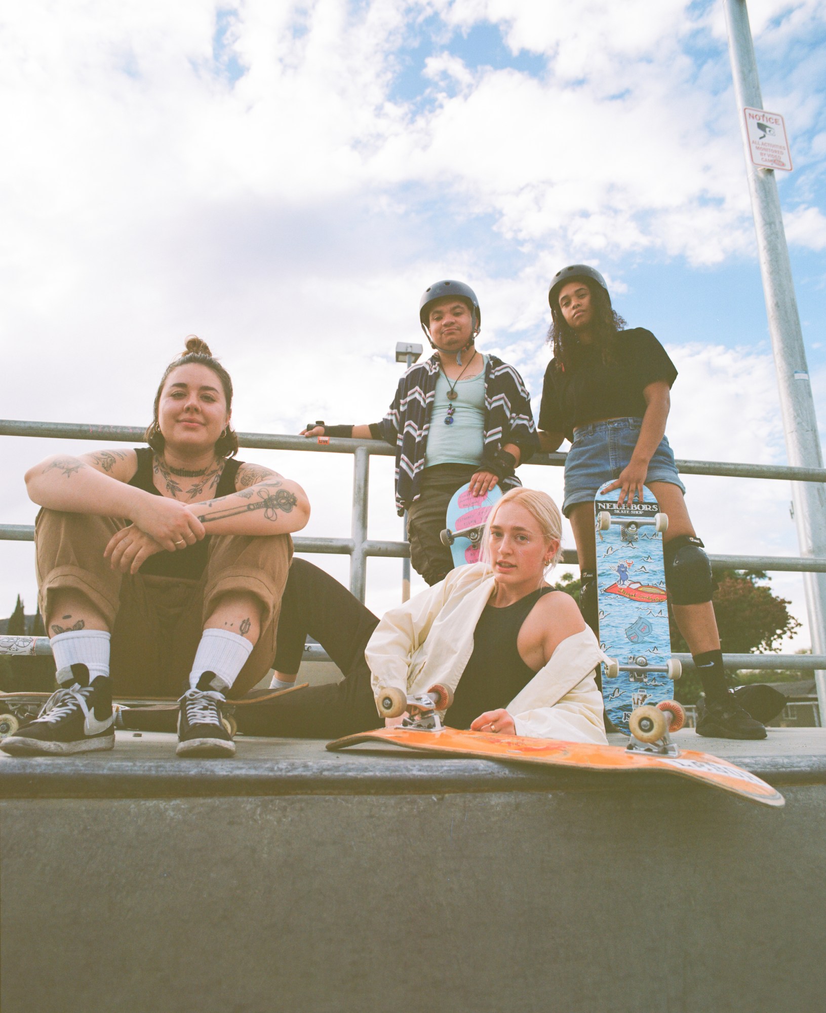
M 269 670 L 290 534 L 310 505 L 296 482 L 235 460 L 232 397 L 190 336 L 161 378 L 149 447 L 55 455 L 26 473 L 60 688 L 7 753 L 111 749 L 112 684 L 181 694 L 179 755 L 235 753 L 222 704 Z

